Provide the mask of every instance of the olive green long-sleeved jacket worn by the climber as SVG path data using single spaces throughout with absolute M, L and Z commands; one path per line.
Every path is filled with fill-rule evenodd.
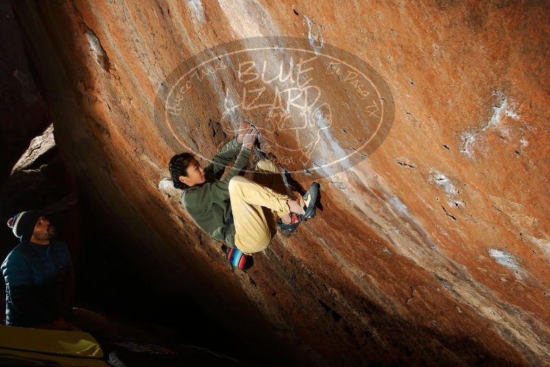
M 221 179 L 225 166 L 237 153 L 239 156 L 228 175 Z M 229 247 L 234 247 L 235 238 L 229 181 L 233 176 L 239 175 L 248 164 L 249 158 L 250 149 L 243 148 L 243 144 L 237 143 L 236 139 L 231 140 L 214 155 L 212 163 L 204 168 L 206 182 L 187 188 L 181 194 L 181 204 L 197 225 L 208 235 L 225 241 Z

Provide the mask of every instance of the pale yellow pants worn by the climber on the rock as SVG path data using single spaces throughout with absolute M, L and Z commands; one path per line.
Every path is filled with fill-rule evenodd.
M 281 171 L 268 160 L 256 164 L 252 180 L 234 176 L 229 197 L 235 224 L 235 246 L 242 252 L 263 251 L 277 232 L 277 216 L 289 214 Z

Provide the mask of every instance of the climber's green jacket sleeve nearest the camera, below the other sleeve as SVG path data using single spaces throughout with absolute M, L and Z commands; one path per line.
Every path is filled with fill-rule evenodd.
M 229 173 L 222 180 L 204 183 L 201 188 L 192 191 L 192 195 L 195 196 L 193 205 L 196 208 L 208 208 L 210 203 L 227 200 L 229 198 L 229 181 L 232 177 L 239 175 L 248 164 L 248 159 L 250 159 L 250 149 L 242 148 Z

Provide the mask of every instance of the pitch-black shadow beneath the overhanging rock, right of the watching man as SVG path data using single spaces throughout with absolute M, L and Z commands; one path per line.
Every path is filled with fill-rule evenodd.
M 98 212 L 98 208 L 85 199 L 79 201 L 79 208 L 82 247 L 76 305 L 103 313 L 112 322 L 111 335 L 94 335 L 99 340 L 112 344 L 113 337 L 119 337 L 178 350 L 182 346 L 205 348 L 247 366 L 277 366 L 287 361 L 288 356 L 266 358 L 262 348 L 250 348 L 254 346 L 253 340 L 245 348 L 239 348 L 238 341 L 246 339 L 245 335 L 237 335 L 212 320 L 190 295 L 184 291 L 159 290 L 164 287 L 158 282 L 171 280 L 163 279 L 146 264 L 136 263 L 142 256 L 126 249 L 135 246 L 135 252 L 140 252 L 142 245 L 131 239 L 129 229 L 106 220 L 105 213 Z M 228 318 L 231 317 L 228 314 Z M 157 361 L 160 362 L 162 359 Z

